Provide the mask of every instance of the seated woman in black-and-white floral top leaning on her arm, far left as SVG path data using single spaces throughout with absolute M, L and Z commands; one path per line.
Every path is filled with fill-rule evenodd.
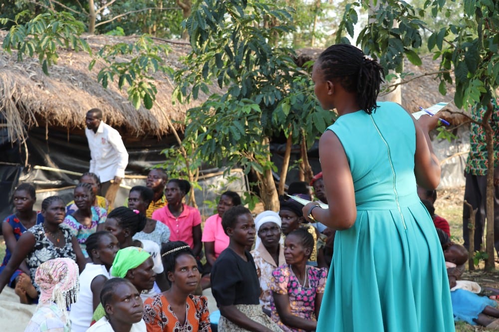
M 38 266 L 54 258 L 71 258 L 78 263 L 80 271 L 83 271 L 85 257 L 76 238 L 62 223 L 65 212 L 64 201 L 59 196 L 50 196 L 43 200 L 41 214 L 45 221 L 25 231 L 17 240 L 10 260 L 0 273 L 0 292 L 24 260 L 31 280 L 34 280 Z M 38 289 L 36 282 L 33 286 Z M 26 293 L 33 298 L 31 291 Z

